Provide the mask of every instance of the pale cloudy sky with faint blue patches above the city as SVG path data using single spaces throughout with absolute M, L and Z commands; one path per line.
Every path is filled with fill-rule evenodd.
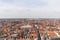
M 0 0 L 0 18 L 60 18 L 60 0 Z

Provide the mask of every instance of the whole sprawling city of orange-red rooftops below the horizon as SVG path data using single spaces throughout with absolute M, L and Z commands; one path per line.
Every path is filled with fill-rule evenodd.
M 59 19 L 0 19 L 0 40 L 58 40 L 59 38 Z

